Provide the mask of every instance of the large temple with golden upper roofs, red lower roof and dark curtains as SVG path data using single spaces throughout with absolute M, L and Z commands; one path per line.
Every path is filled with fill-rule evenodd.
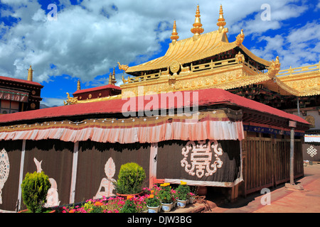
M 126 162 L 144 168 L 146 187 L 183 180 L 231 201 L 303 177 L 310 123 L 284 109 L 299 103 L 303 111 L 304 97 L 318 104 L 319 65 L 280 71 L 279 57 L 264 60 L 242 45 L 244 31 L 229 42 L 222 6 L 217 17 L 217 30 L 203 33 L 197 6 L 192 37 L 183 40 L 174 21 L 164 56 L 118 62 L 129 75 L 119 87 L 113 72 L 102 87 L 78 81 L 64 106 L 0 116 L 0 209 L 21 204 L 18 185 L 39 165 L 55 182 L 48 206 L 114 196 L 107 183 Z

